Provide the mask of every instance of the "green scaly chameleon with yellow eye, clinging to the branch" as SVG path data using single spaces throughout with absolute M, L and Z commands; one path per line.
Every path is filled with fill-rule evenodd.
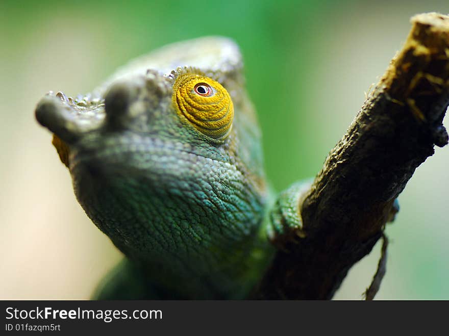
M 200 38 L 39 102 L 78 201 L 126 256 L 94 298 L 245 298 L 272 243 L 301 237 L 301 187 L 267 186 L 242 68 L 233 41 Z

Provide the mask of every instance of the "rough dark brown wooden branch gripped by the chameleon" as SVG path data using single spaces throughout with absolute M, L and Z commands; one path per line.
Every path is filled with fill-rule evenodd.
M 330 299 L 382 237 L 416 167 L 444 146 L 449 17 L 411 19 L 390 63 L 300 204 L 306 238 L 279 250 L 256 292 L 263 299 Z

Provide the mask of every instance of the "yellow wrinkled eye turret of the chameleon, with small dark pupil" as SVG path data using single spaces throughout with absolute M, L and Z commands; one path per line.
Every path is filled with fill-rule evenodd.
M 218 82 L 198 74 L 182 74 L 173 86 L 173 105 L 197 131 L 222 141 L 228 136 L 234 106 L 228 91 Z

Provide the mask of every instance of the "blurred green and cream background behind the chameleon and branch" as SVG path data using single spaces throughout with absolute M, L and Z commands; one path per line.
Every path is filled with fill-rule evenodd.
M 49 90 L 87 93 L 130 59 L 204 35 L 240 45 L 267 174 L 281 190 L 314 176 L 405 41 L 421 1 L 0 1 L 0 298 L 84 299 L 121 257 L 85 216 L 34 119 Z M 449 148 L 419 167 L 387 228 L 378 299 L 449 299 Z M 360 299 L 379 244 L 336 299 Z

